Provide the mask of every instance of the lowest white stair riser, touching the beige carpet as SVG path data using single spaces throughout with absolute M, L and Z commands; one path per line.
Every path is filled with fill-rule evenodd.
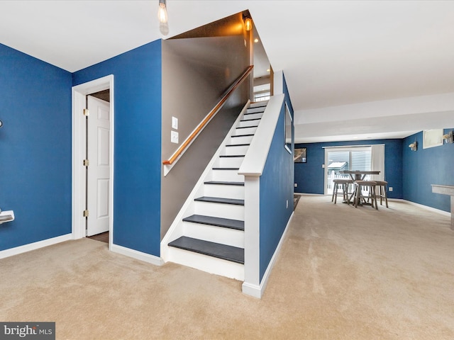
M 199 271 L 206 271 L 207 273 L 226 276 L 240 281 L 244 280 L 243 264 L 216 259 L 215 257 L 194 253 L 193 251 L 170 246 L 169 261 L 199 269 Z

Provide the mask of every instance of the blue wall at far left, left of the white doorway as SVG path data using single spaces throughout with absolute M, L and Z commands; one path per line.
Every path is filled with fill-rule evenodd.
M 71 82 L 0 44 L 0 250 L 71 233 Z

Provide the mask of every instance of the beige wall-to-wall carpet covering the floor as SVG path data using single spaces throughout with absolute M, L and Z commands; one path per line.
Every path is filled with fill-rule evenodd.
M 450 219 L 301 196 L 262 300 L 79 239 L 0 260 L 0 321 L 57 339 L 454 339 Z

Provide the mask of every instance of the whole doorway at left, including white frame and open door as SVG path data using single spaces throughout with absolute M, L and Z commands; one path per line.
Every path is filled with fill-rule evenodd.
M 87 108 L 88 111 L 84 110 Z M 72 88 L 74 239 L 109 232 L 111 249 L 114 235 L 113 183 L 114 76 L 109 75 Z

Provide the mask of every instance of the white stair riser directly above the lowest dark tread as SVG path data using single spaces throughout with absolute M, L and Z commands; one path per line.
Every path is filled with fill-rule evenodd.
M 244 248 L 243 230 L 183 222 L 183 233 L 184 236 L 192 237 L 193 239 L 203 239 L 204 241 Z

